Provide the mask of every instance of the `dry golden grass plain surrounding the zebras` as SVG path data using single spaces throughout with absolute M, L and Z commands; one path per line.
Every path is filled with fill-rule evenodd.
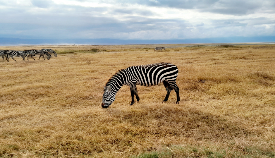
M 42 48 L 57 57 L 0 60 L 0 157 L 275 157 L 275 45 L 0 47 Z M 158 62 L 178 67 L 179 104 L 157 85 L 129 106 L 123 86 L 101 107 L 118 69 Z

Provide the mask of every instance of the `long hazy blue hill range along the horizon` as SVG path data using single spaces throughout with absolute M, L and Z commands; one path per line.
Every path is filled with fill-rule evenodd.
M 0 45 L 111 45 L 111 44 L 185 44 L 185 43 L 251 43 L 275 42 L 275 36 L 266 37 L 222 37 L 184 40 L 118 40 L 118 39 L 20 39 L 0 37 Z

